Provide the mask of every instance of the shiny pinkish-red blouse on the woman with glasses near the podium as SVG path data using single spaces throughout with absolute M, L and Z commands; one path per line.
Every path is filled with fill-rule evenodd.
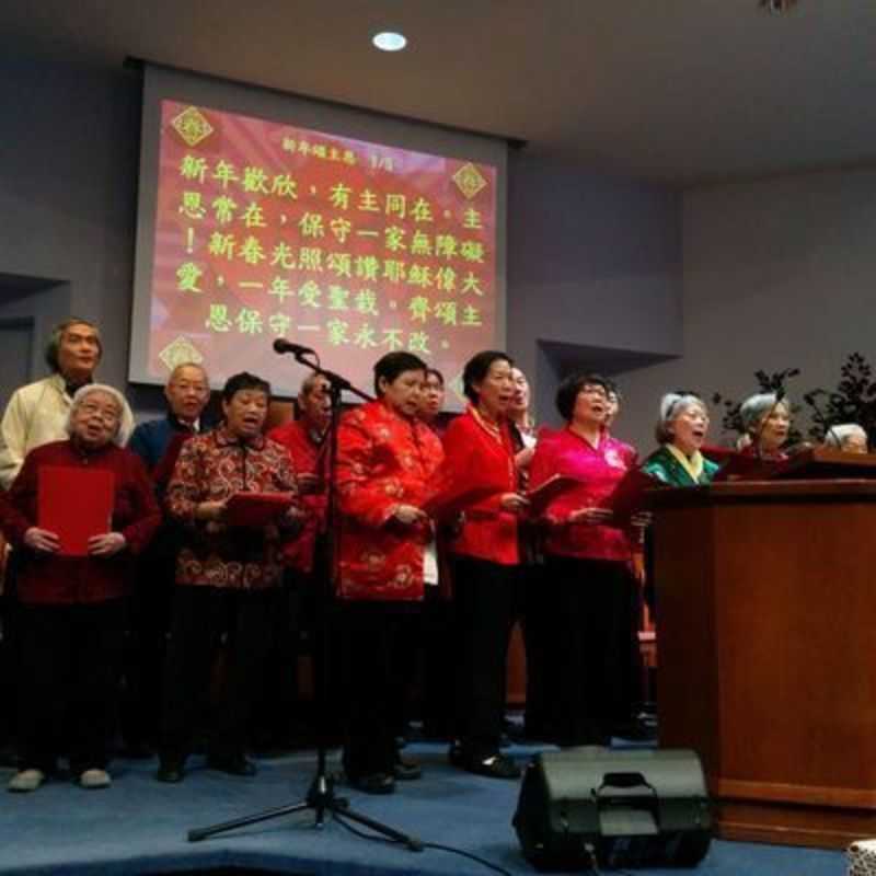
M 544 519 L 550 523 L 545 553 L 587 560 L 631 558 L 632 545 L 624 530 L 567 521 L 579 508 L 602 507 L 635 462 L 635 450 L 607 433 L 600 437 L 598 447 L 568 428 L 539 436 L 530 468 L 530 487 L 534 489 L 554 474 L 581 482 L 580 486 L 557 496 L 544 510 Z

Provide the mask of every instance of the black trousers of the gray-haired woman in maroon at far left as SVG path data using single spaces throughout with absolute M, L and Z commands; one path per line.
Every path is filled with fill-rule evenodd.
M 20 604 L 19 750 L 22 769 L 105 769 L 118 705 L 123 600 Z

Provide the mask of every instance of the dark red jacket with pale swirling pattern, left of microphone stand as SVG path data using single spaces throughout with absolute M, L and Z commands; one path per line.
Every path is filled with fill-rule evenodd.
M 234 493 L 297 494 L 286 448 L 262 435 L 241 441 L 224 426 L 188 438 L 165 496 L 171 517 L 186 526 L 177 584 L 256 590 L 280 583 L 283 537 L 276 527 L 210 531 L 195 520 L 201 502 L 223 502 Z

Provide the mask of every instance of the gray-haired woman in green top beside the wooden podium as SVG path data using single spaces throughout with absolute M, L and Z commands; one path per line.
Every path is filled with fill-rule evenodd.
M 707 431 L 705 402 L 691 392 L 668 392 L 660 400 L 655 430 L 660 448 L 645 460 L 642 470 L 671 486 L 711 483 L 718 466 L 701 452 Z

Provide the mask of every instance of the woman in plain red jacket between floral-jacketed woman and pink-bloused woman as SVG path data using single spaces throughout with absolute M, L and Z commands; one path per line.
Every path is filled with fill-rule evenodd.
M 441 504 L 459 507 L 450 541 L 459 643 L 458 733 L 450 761 L 495 779 L 516 779 L 517 764 L 499 753 L 505 715 L 506 655 L 519 604 L 518 492 L 507 413 L 512 362 L 498 350 L 479 353 L 462 381 L 471 402 L 445 434 Z

